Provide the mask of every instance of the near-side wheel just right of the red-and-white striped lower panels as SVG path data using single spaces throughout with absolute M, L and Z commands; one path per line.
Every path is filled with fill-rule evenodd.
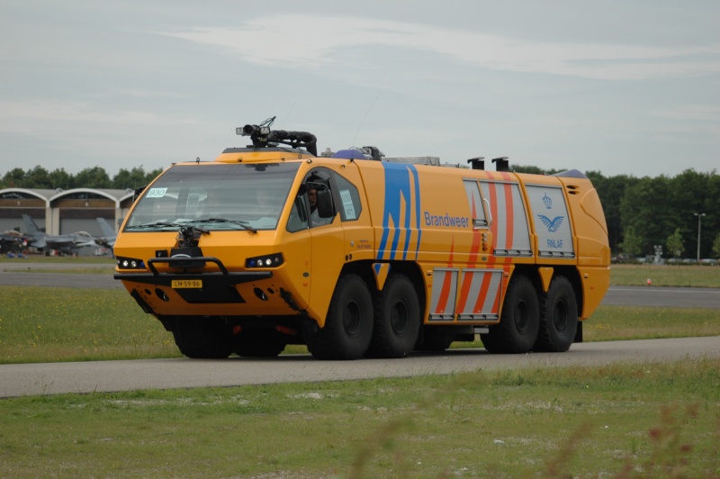
M 480 335 L 491 353 L 527 353 L 535 345 L 540 327 L 540 303 L 527 276 L 513 276 L 505 294 L 500 323 Z

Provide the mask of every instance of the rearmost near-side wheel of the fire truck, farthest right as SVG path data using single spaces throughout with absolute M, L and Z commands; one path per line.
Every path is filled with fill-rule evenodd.
M 578 302 L 570 280 L 557 276 L 540 300 L 540 330 L 536 351 L 563 352 L 570 349 L 578 330 Z

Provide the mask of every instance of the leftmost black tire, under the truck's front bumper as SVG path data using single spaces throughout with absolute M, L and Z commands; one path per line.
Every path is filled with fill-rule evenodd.
M 179 316 L 172 331 L 177 348 L 186 357 L 221 359 L 232 353 L 232 332 L 220 318 Z

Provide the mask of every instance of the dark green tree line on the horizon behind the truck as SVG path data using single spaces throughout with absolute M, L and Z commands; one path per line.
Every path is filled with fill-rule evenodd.
M 559 172 L 527 166 L 514 170 L 539 175 Z M 142 167 L 121 168 L 111 178 L 102 167 L 85 168 L 76 175 L 64 168 L 48 171 L 37 166 L 25 171 L 18 167 L 4 174 L 0 188 L 135 189 L 161 172 L 162 168 L 148 172 Z M 700 258 L 720 258 L 720 175 L 715 170 L 687 169 L 677 176 L 641 178 L 589 171 L 586 176 L 598 190 L 613 254 L 652 255 L 656 246 L 662 246 L 664 258 L 696 258 L 699 222 Z

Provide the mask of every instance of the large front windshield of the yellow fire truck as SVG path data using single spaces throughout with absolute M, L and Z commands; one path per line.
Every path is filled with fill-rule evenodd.
M 275 230 L 299 163 L 179 165 L 140 196 L 126 231 Z

